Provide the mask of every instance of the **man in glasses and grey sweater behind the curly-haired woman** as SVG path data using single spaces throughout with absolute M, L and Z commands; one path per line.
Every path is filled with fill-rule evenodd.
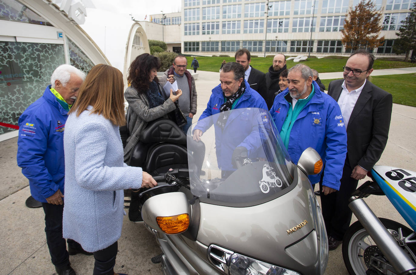
M 183 132 L 188 132 L 189 127 L 192 125 L 192 117 L 196 114 L 196 87 L 195 79 L 188 70 L 186 66 L 188 61 L 186 60 L 185 55 L 177 55 L 173 59 L 172 66 L 166 70 L 163 74 L 161 84 L 165 85 L 167 81 L 177 82 L 178 88 L 182 90 L 181 100 L 178 100 L 179 108 L 183 115 L 186 117 L 186 125 L 182 126 Z M 185 77 L 184 77 L 185 76 Z

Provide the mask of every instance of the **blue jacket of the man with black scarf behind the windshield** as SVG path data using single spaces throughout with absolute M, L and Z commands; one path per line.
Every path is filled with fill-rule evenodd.
M 231 156 L 235 148 L 243 146 L 247 148 L 248 155 L 255 153 L 256 150 L 262 145 L 259 131 L 255 131 L 259 127 L 257 109 L 250 110 L 252 108 L 264 109 L 267 112 L 267 105 L 264 99 L 258 92 L 250 88 L 250 85 L 246 80 L 245 85 L 248 87 L 243 95 L 239 98 L 234 109 L 240 109 L 230 113 L 225 128 L 223 131 L 219 129 L 218 125 L 215 125 L 215 148 L 217 154 L 218 168 L 224 171 L 235 170 L 231 163 Z M 224 103 L 223 90 L 218 85 L 212 90 L 210 100 L 208 101 L 206 110 L 199 117 L 198 121 L 210 115 L 218 114 L 220 112 L 219 107 Z M 256 118 L 256 119 L 253 119 Z M 214 121 L 204 120 L 196 125 L 195 129 L 199 129 L 202 132 L 208 130 L 213 125 Z M 241 135 L 246 133 L 246 135 Z

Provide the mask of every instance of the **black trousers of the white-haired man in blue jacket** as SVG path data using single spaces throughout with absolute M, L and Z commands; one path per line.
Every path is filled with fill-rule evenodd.
M 52 263 L 58 268 L 69 265 L 69 254 L 67 244 L 62 237 L 62 214 L 64 205 L 54 205 L 50 203 L 42 203 L 45 212 L 45 233 L 46 242 L 51 255 Z M 81 248 L 81 245 L 74 240 L 68 239 L 68 247 Z

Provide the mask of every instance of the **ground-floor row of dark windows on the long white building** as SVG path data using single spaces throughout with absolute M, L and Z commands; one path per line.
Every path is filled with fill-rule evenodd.
M 250 52 L 262 52 L 264 41 L 202 41 L 183 42 L 185 52 L 236 52 L 240 48 L 246 48 Z M 379 54 L 393 53 L 394 40 L 385 40 L 384 44 L 377 47 Z M 345 53 L 351 50 L 344 49 L 341 40 L 292 40 L 271 41 L 267 40 L 266 52 L 317 52 L 317 53 Z M 315 49 L 314 49 L 315 48 Z M 369 50 L 374 52 L 374 50 Z

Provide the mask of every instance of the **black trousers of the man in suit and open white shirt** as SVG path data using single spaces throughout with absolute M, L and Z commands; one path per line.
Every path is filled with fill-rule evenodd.
M 341 186 L 339 191 L 324 195 L 322 193 L 322 178 L 319 183 L 321 191 L 322 215 L 324 216 L 327 234 L 336 240 L 342 240 L 345 232 L 351 223 L 352 211 L 348 207 L 348 199 L 357 189 L 358 180 L 351 178 L 351 166 L 349 165 L 348 155 L 345 159 L 342 171 Z

